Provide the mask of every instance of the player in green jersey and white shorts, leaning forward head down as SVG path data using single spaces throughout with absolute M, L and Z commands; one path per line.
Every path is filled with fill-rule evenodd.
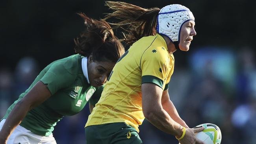
M 0 122 L 0 144 L 56 144 L 56 123 L 98 102 L 124 47 L 105 20 L 79 15 L 85 30 L 75 39 L 78 54 L 50 63 L 20 94 Z

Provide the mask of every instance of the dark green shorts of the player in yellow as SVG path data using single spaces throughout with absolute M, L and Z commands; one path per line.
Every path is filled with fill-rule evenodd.
M 136 129 L 124 122 L 85 127 L 87 144 L 142 144 Z

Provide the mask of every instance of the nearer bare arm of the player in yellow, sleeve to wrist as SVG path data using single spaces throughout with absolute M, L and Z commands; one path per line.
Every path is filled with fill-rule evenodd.
M 161 131 L 181 137 L 183 127 L 175 122 L 162 107 L 163 89 L 152 83 L 143 83 L 141 90 L 142 110 L 145 118 Z M 168 95 L 164 96 L 169 99 Z

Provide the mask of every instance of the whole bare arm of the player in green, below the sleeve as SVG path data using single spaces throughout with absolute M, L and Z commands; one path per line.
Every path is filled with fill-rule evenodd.
M 38 81 L 12 109 L 0 131 L 0 144 L 6 144 L 13 130 L 21 123 L 28 111 L 50 98 L 47 85 Z

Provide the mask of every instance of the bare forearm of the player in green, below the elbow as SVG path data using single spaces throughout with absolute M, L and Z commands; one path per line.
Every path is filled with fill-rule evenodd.
M 0 131 L 0 143 L 6 142 L 8 137 L 11 135 L 13 130 L 20 124 L 23 118 L 29 111 L 29 107 L 26 105 L 22 106 L 22 102 L 18 102 L 13 110 L 6 118 L 6 121 Z

